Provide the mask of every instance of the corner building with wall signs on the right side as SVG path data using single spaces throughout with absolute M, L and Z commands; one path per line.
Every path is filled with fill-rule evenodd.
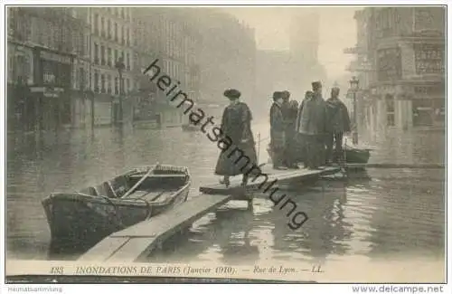
M 371 128 L 445 123 L 446 9 L 370 7 L 358 11 L 361 118 Z

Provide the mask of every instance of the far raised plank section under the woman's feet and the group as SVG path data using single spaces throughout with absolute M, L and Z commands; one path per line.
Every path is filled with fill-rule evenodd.
M 260 187 L 265 190 L 265 188 L 275 180 L 278 180 L 278 183 L 287 183 L 311 179 L 319 177 L 321 175 L 333 175 L 340 171 L 340 167 L 328 166 L 323 170 L 310 170 L 306 168 L 276 170 L 264 166 L 263 168 L 261 168 L 261 170 L 262 175 L 259 175 L 259 177 L 256 178 L 255 181 L 253 181 L 254 176 L 250 175 L 250 180 L 248 182 L 248 185 L 246 186 L 241 186 L 241 176 L 238 176 L 231 179 L 231 185 L 229 185 L 228 187 L 223 184 L 203 185 L 199 190 L 203 194 L 234 194 L 236 196 L 242 196 L 244 192 L 259 190 L 259 186 L 262 185 L 262 183 L 265 181 L 265 176 L 263 176 L 263 174 L 268 175 L 268 180 L 266 180 L 268 184 L 262 185 Z M 272 185 L 272 187 L 276 186 L 278 186 L 278 184 Z

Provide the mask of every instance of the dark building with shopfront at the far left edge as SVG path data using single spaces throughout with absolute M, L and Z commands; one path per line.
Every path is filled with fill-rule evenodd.
M 76 126 L 85 26 L 62 7 L 7 9 L 8 128 Z

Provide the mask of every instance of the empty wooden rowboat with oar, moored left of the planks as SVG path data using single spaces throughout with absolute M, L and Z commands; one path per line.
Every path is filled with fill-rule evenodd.
M 188 168 L 145 166 L 79 192 L 42 200 L 52 242 L 90 247 L 113 232 L 145 221 L 187 200 Z

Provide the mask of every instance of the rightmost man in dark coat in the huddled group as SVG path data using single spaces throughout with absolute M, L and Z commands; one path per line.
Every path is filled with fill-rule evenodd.
M 339 100 L 339 88 L 331 90 L 331 98 L 326 100 L 326 163 L 343 159 L 344 133 L 350 132 L 350 117 L 344 102 Z M 335 142 L 333 157 L 333 142 Z

